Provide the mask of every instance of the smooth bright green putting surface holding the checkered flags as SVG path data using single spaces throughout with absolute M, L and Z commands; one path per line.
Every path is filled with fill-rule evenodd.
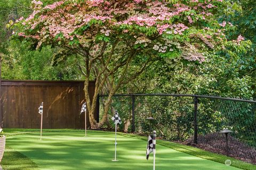
M 147 142 L 111 132 L 45 132 L 39 141 L 38 133 L 13 135 L 6 145 L 21 152 L 40 169 L 153 169 L 153 155 L 146 160 Z M 211 160 L 198 158 L 161 145 L 156 146 L 156 169 L 238 169 Z

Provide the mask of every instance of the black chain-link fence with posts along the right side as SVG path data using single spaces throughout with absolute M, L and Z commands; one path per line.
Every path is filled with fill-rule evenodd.
M 99 96 L 99 117 L 106 97 Z M 146 135 L 151 126 L 159 138 L 256 163 L 256 101 L 166 94 L 115 95 L 112 100 L 108 128 L 114 129 L 111 111 L 117 110 L 123 122 L 119 131 Z M 223 129 L 233 131 L 228 152 Z

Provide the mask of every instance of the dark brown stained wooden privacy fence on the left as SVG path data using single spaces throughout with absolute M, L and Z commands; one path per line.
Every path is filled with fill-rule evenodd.
M 83 129 L 85 102 L 83 81 L 7 81 L 2 80 L 0 118 L 3 128 L 40 128 L 38 107 L 44 102 L 43 128 Z M 89 84 L 90 98 L 95 81 Z M 95 112 L 96 113 L 96 112 Z M 87 125 L 90 125 L 87 114 Z

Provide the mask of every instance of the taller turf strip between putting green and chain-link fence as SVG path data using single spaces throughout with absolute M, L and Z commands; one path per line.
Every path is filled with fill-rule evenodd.
M 147 137 L 143 137 L 141 135 L 124 134 L 124 133 L 118 133 L 118 134 L 120 134 L 120 135 L 130 135 L 131 137 L 139 138 L 139 139 L 142 139 L 142 140 L 147 140 Z M 229 160 L 231 160 L 231 163 L 233 163 L 230 166 L 234 166 L 234 167 L 241 168 L 241 169 L 247 169 L 247 170 L 255 170 L 256 169 L 256 165 L 243 162 L 243 161 L 235 159 L 233 157 L 228 157 L 228 156 L 225 156 L 225 155 L 215 154 L 213 152 L 202 150 L 202 149 L 199 149 L 199 148 L 195 148 L 195 147 L 191 147 L 191 146 L 187 146 L 187 145 L 181 145 L 180 143 L 175 143 L 175 142 L 166 141 L 166 140 L 157 140 L 157 144 L 168 147 L 168 148 L 172 148 L 174 150 L 178 150 L 180 152 L 184 152 L 184 153 L 189 154 L 189 155 L 194 155 L 194 156 L 199 157 L 199 158 L 212 160 L 214 162 L 218 162 L 218 163 L 221 163 L 221 164 L 225 164 L 225 161 L 227 159 L 229 159 Z

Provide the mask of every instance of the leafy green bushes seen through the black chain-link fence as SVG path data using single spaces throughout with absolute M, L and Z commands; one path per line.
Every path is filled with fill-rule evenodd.
M 134 96 L 135 132 L 149 133 L 149 120 L 154 117 L 152 129 L 158 137 L 171 141 L 193 142 L 194 135 L 194 98 L 173 96 Z M 103 114 L 100 97 L 100 115 Z M 132 131 L 132 96 L 114 96 L 111 106 L 117 110 L 123 123 L 119 131 Z M 109 122 L 113 113 L 109 110 Z M 223 100 L 215 98 L 198 98 L 197 111 L 198 137 L 219 133 L 229 129 L 232 137 L 256 147 L 256 103 Z M 214 136 L 214 135 L 213 135 Z M 216 140 L 216 139 L 210 139 Z M 198 141 L 199 142 L 199 141 Z

